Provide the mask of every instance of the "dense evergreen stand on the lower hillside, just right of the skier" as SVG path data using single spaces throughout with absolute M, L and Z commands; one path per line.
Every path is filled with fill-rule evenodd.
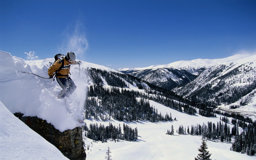
M 120 121 L 149 120 L 151 122 L 172 121 L 171 113 L 162 115 L 158 113 L 148 100 L 137 97 L 142 93 L 134 90 L 120 89 L 118 87 L 105 88 L 103 86 L 90 86 L 85 102 L 85 118 L 94 116 L 95 119 L 108 119 L 108 113 Z M 95 98 L 97 97 L 97 98 Z

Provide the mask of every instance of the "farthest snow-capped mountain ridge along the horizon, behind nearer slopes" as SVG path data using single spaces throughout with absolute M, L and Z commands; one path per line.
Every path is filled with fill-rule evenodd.
M 255 59 L 255 55 L 237 54 L 221 59 L 195 59 L 177 61 L 165 65 L 152 65 L 143 68 L 121 68 L 122 73 L 130 74 L 160 87 L 173 89 L 193 81 L 204 70 L 217 65 L 242 64 Z

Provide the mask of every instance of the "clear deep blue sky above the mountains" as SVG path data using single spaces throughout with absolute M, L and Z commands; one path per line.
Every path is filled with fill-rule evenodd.
M 1 0 L 0 50 L 114 69 L 256 50 L 256 0 Z

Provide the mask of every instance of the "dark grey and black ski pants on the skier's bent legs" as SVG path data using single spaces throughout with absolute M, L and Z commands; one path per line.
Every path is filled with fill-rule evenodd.
M 58 94 L 57 96 L 58 99 L 64 98 L 65 96 L 70 96 L 76 90 L 76 84 L 70 77 L 56 78 L 56 80 L 58 81 L 58 84 L 63 89 Z

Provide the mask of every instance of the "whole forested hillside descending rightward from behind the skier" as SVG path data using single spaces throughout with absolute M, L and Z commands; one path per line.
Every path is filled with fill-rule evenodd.
M 194 115 L 215 116 L 212 108 L 183 99 L 174 92 L 142 81 L 134 76 L 87 68 L 91 84 L 85 104 L 85 118 L 108 119 L 105 113 L 118 120 L 151 122 L 169 121 L 170 113 L 159 113 L 148 100 L 159 102 L 177 111 Z

